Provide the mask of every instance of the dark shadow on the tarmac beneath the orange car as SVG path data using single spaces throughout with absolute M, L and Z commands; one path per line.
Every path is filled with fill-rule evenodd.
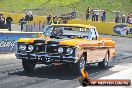
M 110 67 L 108 68 L 99 68 L 98 66 L 89 66 L 86 67 L 86 70 L 89 72 L 89 74 L 98 73 L 98 72 L 105 72 L 108 71 Z M 19 75 L 19 76 L 28 76 L 28 77 L 38 77 L 38 78 L 48 78 L 48 79 L 60 79 L 60 80 L 74 80 L 78 78 L 77 75 L 75 75 L 74 70 L 72 70 L 70 67 L 64 67 L 63 65 L 60 66 L 42 66 L 35 68 L 32 72 L 25 72 L 25 71 L 18 71 L 13 73 L 8 73 L 8 75 Z M 96 76 L 96 74 L 94 74 Z M 92 77 L 92 76 L 91 76 Z

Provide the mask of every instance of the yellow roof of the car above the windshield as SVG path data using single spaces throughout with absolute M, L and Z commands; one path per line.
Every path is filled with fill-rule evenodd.
M 94 26 L 91 26 L 91 25 L 84 25 L 84 24 L 51 24 L 50 26 L 95 28 Z

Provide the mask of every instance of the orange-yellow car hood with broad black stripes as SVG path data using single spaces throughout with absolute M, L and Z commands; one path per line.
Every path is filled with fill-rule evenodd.
M 45 44 L 58 44 L 66 46 L 98 46 L 101 41 L 99 40 L 87 40 L 87 39 L 55 39 L 55 38 L 20 38 L 18 42 L 25 43 L 45 43 Z

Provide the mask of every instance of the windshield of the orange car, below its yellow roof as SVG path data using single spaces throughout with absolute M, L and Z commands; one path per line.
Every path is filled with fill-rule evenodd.
M 83 27 L 49 26 L 44 35 L 49 37 L 86 37 L 89 35 L 89 30 Z

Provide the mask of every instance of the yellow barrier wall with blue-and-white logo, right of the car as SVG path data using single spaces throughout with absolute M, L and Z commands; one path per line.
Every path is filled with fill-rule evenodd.
M 97 21 L 86 21 L 86 20 L 69 20 L 68 23 L 73 24 L 86 24 L 95 26 L 99 33 L 108 35 L 121 35 L 132 37 L 132 24 L 122 24 L 113 22 L 97 22 Z M 129 27 L 130 32 L 127 32 L 127 27 Z

